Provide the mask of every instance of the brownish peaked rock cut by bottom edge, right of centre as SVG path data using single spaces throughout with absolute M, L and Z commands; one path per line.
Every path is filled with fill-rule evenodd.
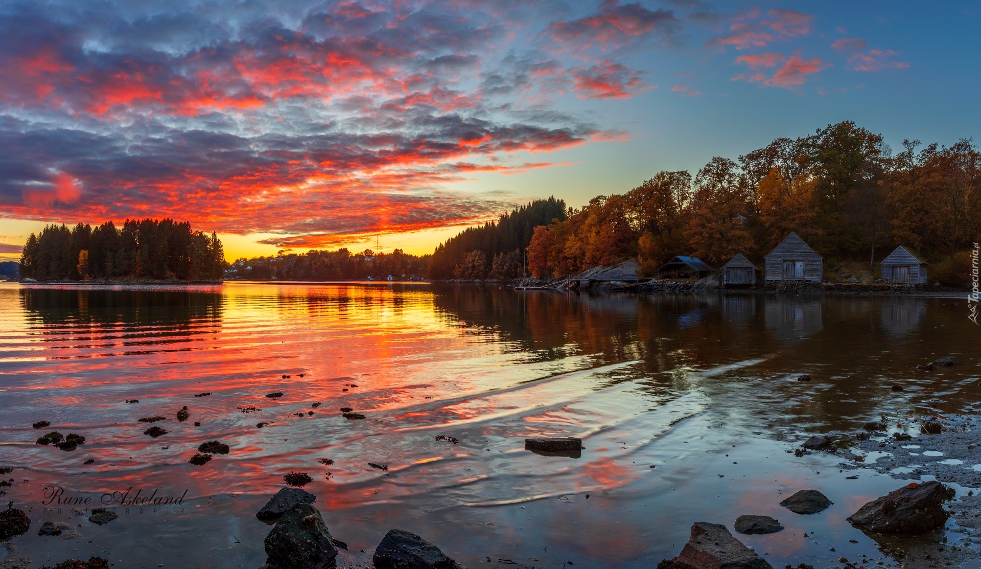
M 692 538 L 674 559 L 658 569 L 773 569 L 773 566 L 737 540 L 725 526 L 696 522 Z

